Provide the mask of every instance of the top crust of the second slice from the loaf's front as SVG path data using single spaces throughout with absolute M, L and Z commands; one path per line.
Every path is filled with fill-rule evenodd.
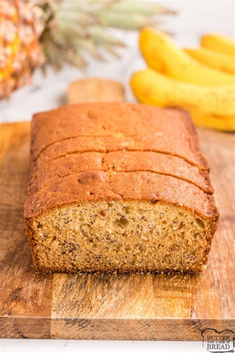
M 51 160 L 41 166 L 36 165 L 28 183 L 28 194 L 40 191 L 59 178 L 89 170 L 150 171 L 175 176 L 198 186 L 208 194 L 213 194 L 208 171 L 200 170 L 179 157 L 142 151 L 74 153 Z

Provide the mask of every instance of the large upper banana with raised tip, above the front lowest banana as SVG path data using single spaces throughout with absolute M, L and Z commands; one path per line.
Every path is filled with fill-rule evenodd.
M 148 66 L 185 82 L 200 85 L 235 85 L 235 76 L 213 70 L 176 47 L 169 36 L 155 29 L 140 32 L 139 45 Z

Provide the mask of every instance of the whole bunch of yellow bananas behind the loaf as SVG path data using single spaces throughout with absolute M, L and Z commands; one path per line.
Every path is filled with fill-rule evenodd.
M 181 50 L 164 33 L 145 28 L 140 49 L 149 66 L 131 87 L 142 103 L 187 110 L 203 127 L 235 131 L 235 43 L 205 35 L 202 48 Z

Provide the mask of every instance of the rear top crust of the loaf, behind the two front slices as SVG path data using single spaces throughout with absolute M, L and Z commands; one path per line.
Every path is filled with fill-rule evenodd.
M 182 110 L 130 103 L 83 103 L 34 115 L 32 160 L 42 153 L 45 160 L 50 160 L 84 148 L 101 152 L 160 151 L 208 169 L 194 125 Z

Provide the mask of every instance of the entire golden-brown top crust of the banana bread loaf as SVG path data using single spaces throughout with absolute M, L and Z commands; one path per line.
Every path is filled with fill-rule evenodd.
M 94 201 L 162 201 L 217 217 L 187 113 L 89 103 L 34 115 L 25 217 Z

